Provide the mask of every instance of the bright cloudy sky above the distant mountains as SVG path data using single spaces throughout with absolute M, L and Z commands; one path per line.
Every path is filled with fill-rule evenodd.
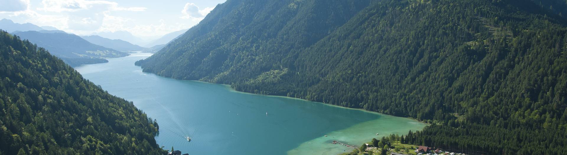
M 0 0 L 0 19 L 90 35 L 128 31 L 151 39 L 198 24 L 226 0 Z

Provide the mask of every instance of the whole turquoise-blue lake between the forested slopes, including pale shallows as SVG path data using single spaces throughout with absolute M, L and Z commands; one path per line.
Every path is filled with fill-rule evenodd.
M 426 124 L 307 100 L 239 93 L 227 85 L 143 73 L 136 53 L 77 69 L 104 90 L 157 119 L 156 141 L 189 154 L 338 154 L 374 137 Z M 376 133 L 379 136 L 376 136 Z M 327 137 L 325 137 L 327 135 Z M 191 137 L 187 141 L 186 137 Z

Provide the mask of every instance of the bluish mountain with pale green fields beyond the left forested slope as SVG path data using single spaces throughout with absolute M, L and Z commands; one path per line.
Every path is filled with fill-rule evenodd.
M 68 33 L 26 31 L 16 32 L 14 35 L 47 49 L 52 55 L 60 57 L 72 66 L 104 62 L 105 60 L 100 60 L 103 58 L 128 56 L 128 53 L 95 45 L 77 35 Z

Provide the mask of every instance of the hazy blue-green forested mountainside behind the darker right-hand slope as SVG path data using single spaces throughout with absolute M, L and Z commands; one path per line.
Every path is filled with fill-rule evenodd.
M 281 60 L 290 50 L 314 44 L 369 2 L 227 1 L 167 44 L 162 49 L 167 52 L 158 52 L 138 64 L 146 72 L 167 77 L 238 81 L 279 68 L 272 62 Z

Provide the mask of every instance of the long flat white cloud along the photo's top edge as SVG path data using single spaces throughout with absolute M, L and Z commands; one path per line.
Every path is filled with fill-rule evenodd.
M 98 7 L 111 11 L 145 11 L 145 7 L 119 7 L 116 2 L 109 1 L 86 1 L 86 0 L 43 0 L 43 8 L 40 11 L 63 12 L 87 9 L 98 9 Z

